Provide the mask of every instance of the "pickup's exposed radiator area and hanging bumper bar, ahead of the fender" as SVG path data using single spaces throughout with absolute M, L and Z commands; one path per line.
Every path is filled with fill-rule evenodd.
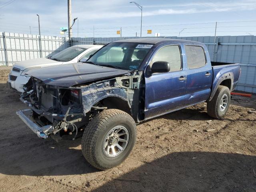
M 54 140 L 60 140 L 66 133 L 76 132 L 77 135 L 78 127 L 84 125 L 86 119 L 80 89 L 46 85 L 34 77 L 26 84 L 26 89 L 20 100 L 30 110 L 16 113 L 33 132 L 41 138 L 51 136 Z

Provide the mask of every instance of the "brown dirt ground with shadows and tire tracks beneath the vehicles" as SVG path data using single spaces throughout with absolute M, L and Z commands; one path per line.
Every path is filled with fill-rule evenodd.
M 24 108 L 1 81 L 1 192 L 256 192 L 255 95 L 234 96 L 221 120 L 202 103 L 139 124 L 130 156 L 106 171 L 86 162 L 81 138 L 39 139 L 15 113 Z

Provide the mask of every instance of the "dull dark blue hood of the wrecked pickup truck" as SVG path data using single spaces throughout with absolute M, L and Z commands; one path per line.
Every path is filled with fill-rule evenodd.
M 71 87 L 76 84 L 128 74 L 129 72 L 129 70 L 79 62 L 29 70 L 27 74 L 42 80 L 48 85 Z

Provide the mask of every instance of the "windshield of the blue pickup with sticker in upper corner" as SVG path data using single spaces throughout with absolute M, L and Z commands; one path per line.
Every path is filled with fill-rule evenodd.
M 153 44 L 110 43 L 96 52 L 87 62 L 121 68 L 138 70 Z

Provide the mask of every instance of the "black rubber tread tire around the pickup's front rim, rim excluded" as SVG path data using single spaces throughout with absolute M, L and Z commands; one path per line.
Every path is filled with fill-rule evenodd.
M 104 155 L 102 142 L 114 126 L 125 126 L 129 141 L 125 150 L 114 158 Z M 130 154 L 136 141 L 136 123 L 126 112 L 118 109 L 103 110 L 90 120 L 82 136 L 82 153 L 95 168 L 106 170 L 121 164 Z

